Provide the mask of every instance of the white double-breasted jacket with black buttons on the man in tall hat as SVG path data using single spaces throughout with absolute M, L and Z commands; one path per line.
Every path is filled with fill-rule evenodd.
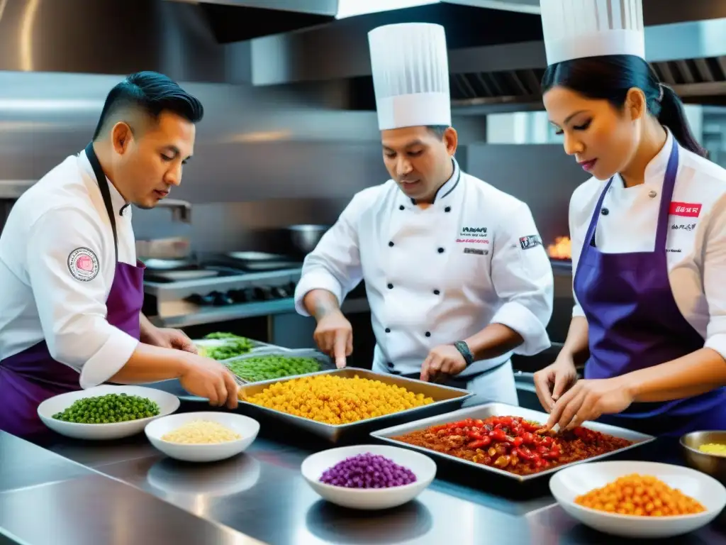
M 552 266 L 529 207 L 460 171 L 422 209 L 392 179 L 357 193 L 303 262 L 295 306 L 331 291 L 342 302 L 365 279 L 374 365 L 420 372 L 428 352 L 502 323 L 524 342 L 515 352 L 550 347 Z M 461 376 L 505 363 L 508 352 Z

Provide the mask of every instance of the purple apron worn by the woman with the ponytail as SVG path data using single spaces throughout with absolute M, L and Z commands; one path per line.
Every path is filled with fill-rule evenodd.
M 586 379 L 624 375 L 703 348 L 703 336 L 677 307 L 668 276 L 666 234 L 677 171 L 678 145 L 673 142 L 653 251 L 603 254 L 597 249 L 597 219 L 612 178 L 600 194 L 574 278 L 574 291 L 589 328 Z M 600 421 L 651 435 L 726 429 L 726 389 L 665 403 L 633 403 L 622 413 L 603 416 Z

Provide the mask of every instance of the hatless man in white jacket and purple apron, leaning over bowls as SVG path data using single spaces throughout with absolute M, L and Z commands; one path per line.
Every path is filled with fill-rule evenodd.
M 42 440 L 40 403 L 105 382 L 178 378 L 213 405 L 237 406 L 227 368 L 141 313 L 129 205 L 153 208 L 181 183 L 202 118 L 168 77 L 131 74 L 107 95 L 86 148 L 13 206 L 0 235 L 0 431 Z

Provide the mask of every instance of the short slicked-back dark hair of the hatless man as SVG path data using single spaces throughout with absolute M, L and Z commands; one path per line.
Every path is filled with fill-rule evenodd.
M 170 111 L 191 123 L 198 123 L 204 116 L 202 103 L 181 89 L 176 81 L 158 72 L 137 72 L 108 93 L 93 140 L 98 139 L 115 113 L 124 108 L 138 108 L 153 119 L 163 111 Z

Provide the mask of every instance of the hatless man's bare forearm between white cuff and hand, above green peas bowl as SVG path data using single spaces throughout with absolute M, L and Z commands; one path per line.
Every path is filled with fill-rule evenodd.
M 189 365 L 185 352 L 139 343 L 131 358 L 110 378 L 109 382 L 139 384 L 178 379 L 187 371 Z

